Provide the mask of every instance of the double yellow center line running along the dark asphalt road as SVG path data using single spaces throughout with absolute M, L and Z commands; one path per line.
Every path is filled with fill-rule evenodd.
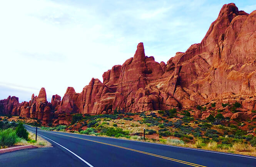
M 44 131 L 44 132 L 47 132 L 47 131 Z M 190 166 L 194 166 L 194 167 L 206 167 L 206 166 L 203 166 L 203 165 L 193 164 L 191 162 L 186 162 L 186 161 L 183 161 L 183 160 L 164 157 L 162 155 L 157 155 L 157 154 L 152 154 L 152 153 L 149 153 L 149 152 L 130 149 L 130 148 L 127 148 L 127 147 L 117 146 L 117 145 L 114 145 L 114 144 L 108 144 L 108 143 L 104 143 L 104 142 L 98 142 L 98 141 L 93 141 L 93 140 L 89 140 L 89 139 L 83 139 L 83 138 L 80 138 L 80 137 L 68 136 L 68 135 L 58 134 L 58 133 L 53 133 L 53 132 L 47 132 L 47 133 L 52 133 L 52 134 L 57 134 L 57 135 L 62 135 L 62 136 L 67 136 L 67 137 L 73 137 L 73 138 L 76 138 L 76 139 L 81 139 L 81 140 L 85 140 L 85 141 L 90 141 L 90 142 L 105 144 L 105 145 L 109 145 L 109 146 L 113 146 L 113 147 L 118 147 L 118 148 L 121 148 L 121 149 L 131 150 L 131 151 L 134 151 L 134 152 L 139 152 L 139 153 L 142 153 L 142 154 L 147 154 L 147 155 L 151 155 L 151 156 L 154 156 L 154 157 L 159 157 L 159 158 L 162 158 L 162 159 L 167 159 L 167 160 L 171 160 L 171 161 L 174 161 L 174 162 L 179 162 L 181 164 L 186 164 L 186 165 L 190 165 Z

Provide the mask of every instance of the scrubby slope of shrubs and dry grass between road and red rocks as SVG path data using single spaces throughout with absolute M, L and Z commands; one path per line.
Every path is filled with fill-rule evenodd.
M 73 114 L 68 125 L 49 124 L 41 129 L 144 141 L 145 128 L 146 142 L 256 156 L 256 120 L 231 120 L 227 116 L 239 112 L 239 107 L 238 102 L 214 102 L 181 111 L 173 108 L 139 113 L 116 110 L 114 114 Z M 198 119 L 196 113 L 206 115 Z

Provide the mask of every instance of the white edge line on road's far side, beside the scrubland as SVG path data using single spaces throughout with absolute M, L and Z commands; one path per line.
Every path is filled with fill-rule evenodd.
M 42 130 L 42 129 L 41 129 L 41 130 Z M 44 131 L 45 131 L 45 130 L 44 130 Z M 55 132 L 55 131 L 52 131 L 52 132 Z M 60 132 L 60 133 L 61 133 L 61 132 Z M 58 133 L 55 133 L 55 134 L 58 134 Z M 77 134 L 77 135 L 80 135 L 80 134 Z M 90 136 L 90 135 L 82 135 L 82 136 Z M 102 137 L 102 136 L 91 136 L 91 137 Z M 112 138 L 112 137 L 102 137 L 102 138 L 116 139 L 116 138 Z M 116 139 L 116 140 L 132 141 L 132 140 L 126 140 L 126 139 Z M 181 148 L 181 149 L 197 150 L 197 151 L 211 152 L 211 153 L 216 153 L 216 154 L 225 154 L 225 155 L 233 155 L 233 156 L 238 156 L 238 157 L 245 157 L 245 158 L 256 159 L 256 157 L 249 157 L 249 156 L 237 155 L 237 154 L 228 154 L 228 153 L 224 153 L 224 152 L 214 152 L 214 151 L 201 150 L 201 149 L 192 149 L 192 148 L 187 148 L 187 147 L 170 146 L 170 145 L 166 145 L 166 144 L 157 144 L 157 143 L 142 142 L 142 141 L 132 141 L 132 142 L 141 142 L 141 143 L 147 143 L 147 144 L 156 144 L 156 145 L 160 145 L 160 146 L 177 147 L 177 148 Z

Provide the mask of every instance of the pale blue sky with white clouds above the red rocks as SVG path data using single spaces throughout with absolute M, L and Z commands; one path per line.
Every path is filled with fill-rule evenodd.
M 82 92 L 92 78 L 134 56 L 165 63 L 200 43 L 221 7 L 256 10 L 255 0 L 0 1 L 0 99 L 47 100 L 68 86 Z

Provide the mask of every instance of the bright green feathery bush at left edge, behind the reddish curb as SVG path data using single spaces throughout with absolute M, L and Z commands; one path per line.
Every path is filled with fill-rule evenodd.
M 20 138 L 13 129 L 0 130 L 0 146 L 10 146 L 19 141 Z

